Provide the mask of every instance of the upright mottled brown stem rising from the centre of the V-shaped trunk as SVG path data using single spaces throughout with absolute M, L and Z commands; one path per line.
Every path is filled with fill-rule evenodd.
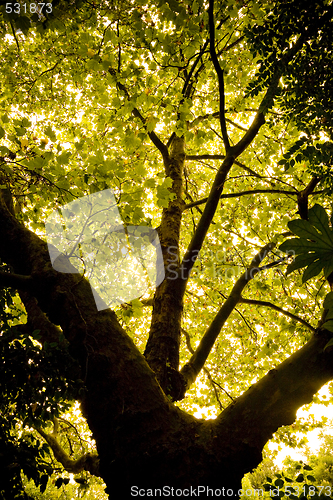
M 175 136 L 170 155 L 164 160 L 165 172 L 172 179 L 174 200 L 163 210 L 159 237 L 164 260 L 165 279 L 157 287 L 145 357 L 156 373 L 158 381 L 173 400 L 183 393 L 184 383 L 178 372 L 179 345 L 183 297 L 177 286 L 179 278 L 179 234 L 184 202 L 182 183 L 185 159 L 183 137 Z

